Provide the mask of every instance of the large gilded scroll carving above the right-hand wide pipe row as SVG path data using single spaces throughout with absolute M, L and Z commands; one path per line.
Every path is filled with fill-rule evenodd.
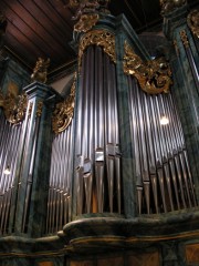
M 171 71 L 164 58 L 144 62 L 125 42 L 124 72 L 134 75 L 143 91 L 149 94 L 168 92 Z

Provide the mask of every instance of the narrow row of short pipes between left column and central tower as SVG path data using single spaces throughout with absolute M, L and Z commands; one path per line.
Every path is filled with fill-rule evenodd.
M 69 127 L 54 136 L 48 197 L 46 234 L 63 228 L 70 221 L 71 178 L 73 160 L 73 121 Z

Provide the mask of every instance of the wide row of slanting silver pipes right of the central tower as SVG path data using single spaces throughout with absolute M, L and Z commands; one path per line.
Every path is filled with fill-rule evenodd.
M 184 133 L 171 94 L 147 95 L 133 78 L 127 79 L 138 213 L 196 206 Z M 161 116 L 169 123 L 160 124 Z

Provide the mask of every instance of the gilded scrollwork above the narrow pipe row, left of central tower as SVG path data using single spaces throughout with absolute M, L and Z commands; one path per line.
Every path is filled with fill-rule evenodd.
M 56 104 L 52 116 L 52 129 L 55 134 L 59 134 L 67 129 L 73 119 L 75 101 L 75 81 L 71 88 L 70 95 Z

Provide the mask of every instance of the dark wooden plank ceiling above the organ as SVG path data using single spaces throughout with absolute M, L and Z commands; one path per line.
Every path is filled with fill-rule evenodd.
M 8 21 L 6 49 L 30 70 L 38 57 L 51 59 L 50 72 L 70 65 L 75 53 L 70 47 L 74 16 L 67 0 L 0 0 Z M 189 0 L 195 6 L 198 0 Z M 64 4 L 65 3 L 65 4 Z M 125 13 L 138 32 L 157 30 L 161 24 L 159 0 L 112 0 L 111 13 Z

